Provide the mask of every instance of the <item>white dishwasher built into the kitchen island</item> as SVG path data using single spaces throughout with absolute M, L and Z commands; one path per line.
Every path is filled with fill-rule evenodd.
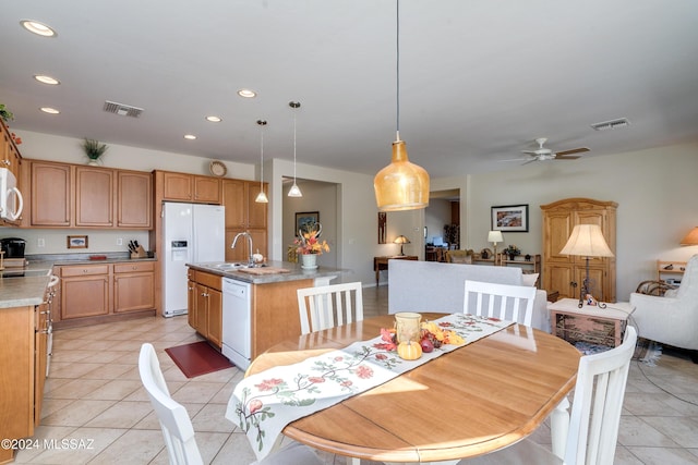
M 250 341 L 252 284 L 222 279 L 222 354 L 238 368 L 248 369 L 252 357 Z

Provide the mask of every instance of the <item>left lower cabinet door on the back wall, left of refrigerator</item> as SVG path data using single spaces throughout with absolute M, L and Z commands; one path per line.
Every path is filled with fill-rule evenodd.
M 108 274 L 61 280 L 61 319 L 109 314 Z

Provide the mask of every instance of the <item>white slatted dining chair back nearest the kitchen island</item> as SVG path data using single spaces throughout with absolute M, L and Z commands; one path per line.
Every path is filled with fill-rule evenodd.
M 301 334 L 363 320 L 361 282 L 303 287 L 297 293 Z

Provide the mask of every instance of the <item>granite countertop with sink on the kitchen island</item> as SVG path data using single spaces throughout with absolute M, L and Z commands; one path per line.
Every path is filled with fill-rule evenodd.
M 258 270 L 274 270 L 282 269 L 288 272 L 275 272 L 269 274 L 252 274 L 236 269 L 226 268 L 226 265 L 232 262 L 215 261 L 215 262 L 200 262 L 200 264 L 186 264 L 188 267 L 205 271 L 212 274 L 218 274 L 224 278 L 232 278 L 238 281 L 249 282 L 252 284 L 268 284 L 274 282 L 298 281 L 303 279 L 316 279 L 316 278 L 336 278 L 339 274 L 348 272 L 338 268 L 317 267 L 314 270 L 304 270 L 301 268 L 301 264 L 293 264 L 290 261 L 268 261 L 266 267 L 261 267 Z

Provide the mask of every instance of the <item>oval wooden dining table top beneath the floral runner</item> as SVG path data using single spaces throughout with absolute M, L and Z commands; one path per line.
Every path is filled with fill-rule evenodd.
M 422 314 L 436 319 L 444 314 Z M 392 328 L 393 315 L 313 332 L 261 354 L 246 375 L 290 365 Z M 574 388 L 579 352 L 554 335 L 513 325 L 287 425 L 312 448 L 377 462 L 472 457 L 533 432 Z

